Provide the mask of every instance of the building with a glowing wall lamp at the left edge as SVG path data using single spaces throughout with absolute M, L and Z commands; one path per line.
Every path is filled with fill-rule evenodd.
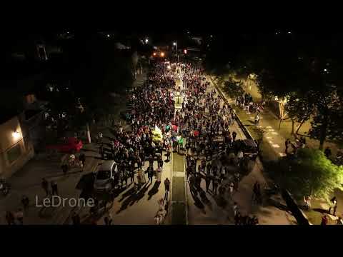
M 8 178 L 34 157 L 29 131 L 23 125 L 22 114 L 15 112 L 0 119 L 0 176 Z

